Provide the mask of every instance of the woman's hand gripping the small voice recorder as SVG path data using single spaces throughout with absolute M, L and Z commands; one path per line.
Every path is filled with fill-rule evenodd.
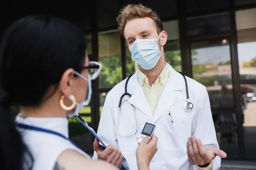
M 149 170 L 149 163 L 157 152 L 157 136 L 151 139 L 145 137 L 136 150 L 137 165 L 139 170 Z

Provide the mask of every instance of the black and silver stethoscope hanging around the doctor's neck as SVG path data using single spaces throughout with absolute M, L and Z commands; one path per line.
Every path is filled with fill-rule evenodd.
M 177 71 L 177 72 L 180 73 L 180 74 L 183 76 L 183 78 L 184 78 L 184 80 L 185 80 L 185 84 L 186 84 L 186 96 L 187 96 L 187 101 L 183 104 L 183 109 L 184 109 L 186 112 L 191 112 L 191 111 L 193 110 L 193 104 L 192 104 L 192 102 L 189 102 L 189 89 L 188 89 L 188 83 L 187 83 L 186 77 L 185 77 L 185 75 L 184 75 L 183 73 L 181 73 L 181 72 L 179 72 L 179 71 Z M 136 116 L 136 112 L 135 112 L 135 107 L 134 107 L 134 105 L 131 105 L 131 106 L 133 107 L 134 116 L 135 116 L 135 119 L 136 119 L 136 132 L 133 133 L 133 134 L 130 134 L 130 135 L 126 135 L 126 136 L 122 136 L 122 135 L 119 133 L 119 119 L 120 119 L 120 111 L 121 111 L 121 107 L 122 107 L 122 99 L 123 99 L 124 96 L 129 96 L 129 98 L 131 97 L 131 94 L 129 94 L 129 93 L 127 92 L 127 85 L 128 85 L 129 79 L 131 78 L 132 75 L 134 75 L 134 73 L 131 74 L 131 75 L 127 78 L 127 80 L 126 80 L 126 82 L 125 82 L 125 93 L 122 94 L 122 96 L 120 97 L 119 105 L 118 105 L 117 133 L 118 133 L 118 135 L 121 136 L 121 137 L 129 137 L 129 136 L 132 136 L 132 135 L 136 134 L 137 131 L 138 131 L 138 120 L 137 120 L 137 116 Z

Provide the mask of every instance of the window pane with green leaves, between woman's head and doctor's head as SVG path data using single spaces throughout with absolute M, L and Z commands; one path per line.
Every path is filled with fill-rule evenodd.
M 99 88 L 113 88 L 122 81 L 121 38 L 118 31 L 99 33 Z

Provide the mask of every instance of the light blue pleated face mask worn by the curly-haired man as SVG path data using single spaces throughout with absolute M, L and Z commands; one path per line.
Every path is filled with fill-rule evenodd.
M 154 68 L 161 57 L 163 46 L 160 51 L 157 45 L 160 35 L 158 39 L 151 38 L 135 40 L 129 47 L 131 58 L 145 70 Z

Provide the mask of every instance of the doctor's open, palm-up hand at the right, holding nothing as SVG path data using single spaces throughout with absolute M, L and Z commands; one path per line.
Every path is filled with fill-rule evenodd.
M 216 156 L 226 158 L 227 154 L 214 146 L 204 146 L 200 139 L 191 136 L 187 142 L 189 163 L 199 167 L 207 167 Z

